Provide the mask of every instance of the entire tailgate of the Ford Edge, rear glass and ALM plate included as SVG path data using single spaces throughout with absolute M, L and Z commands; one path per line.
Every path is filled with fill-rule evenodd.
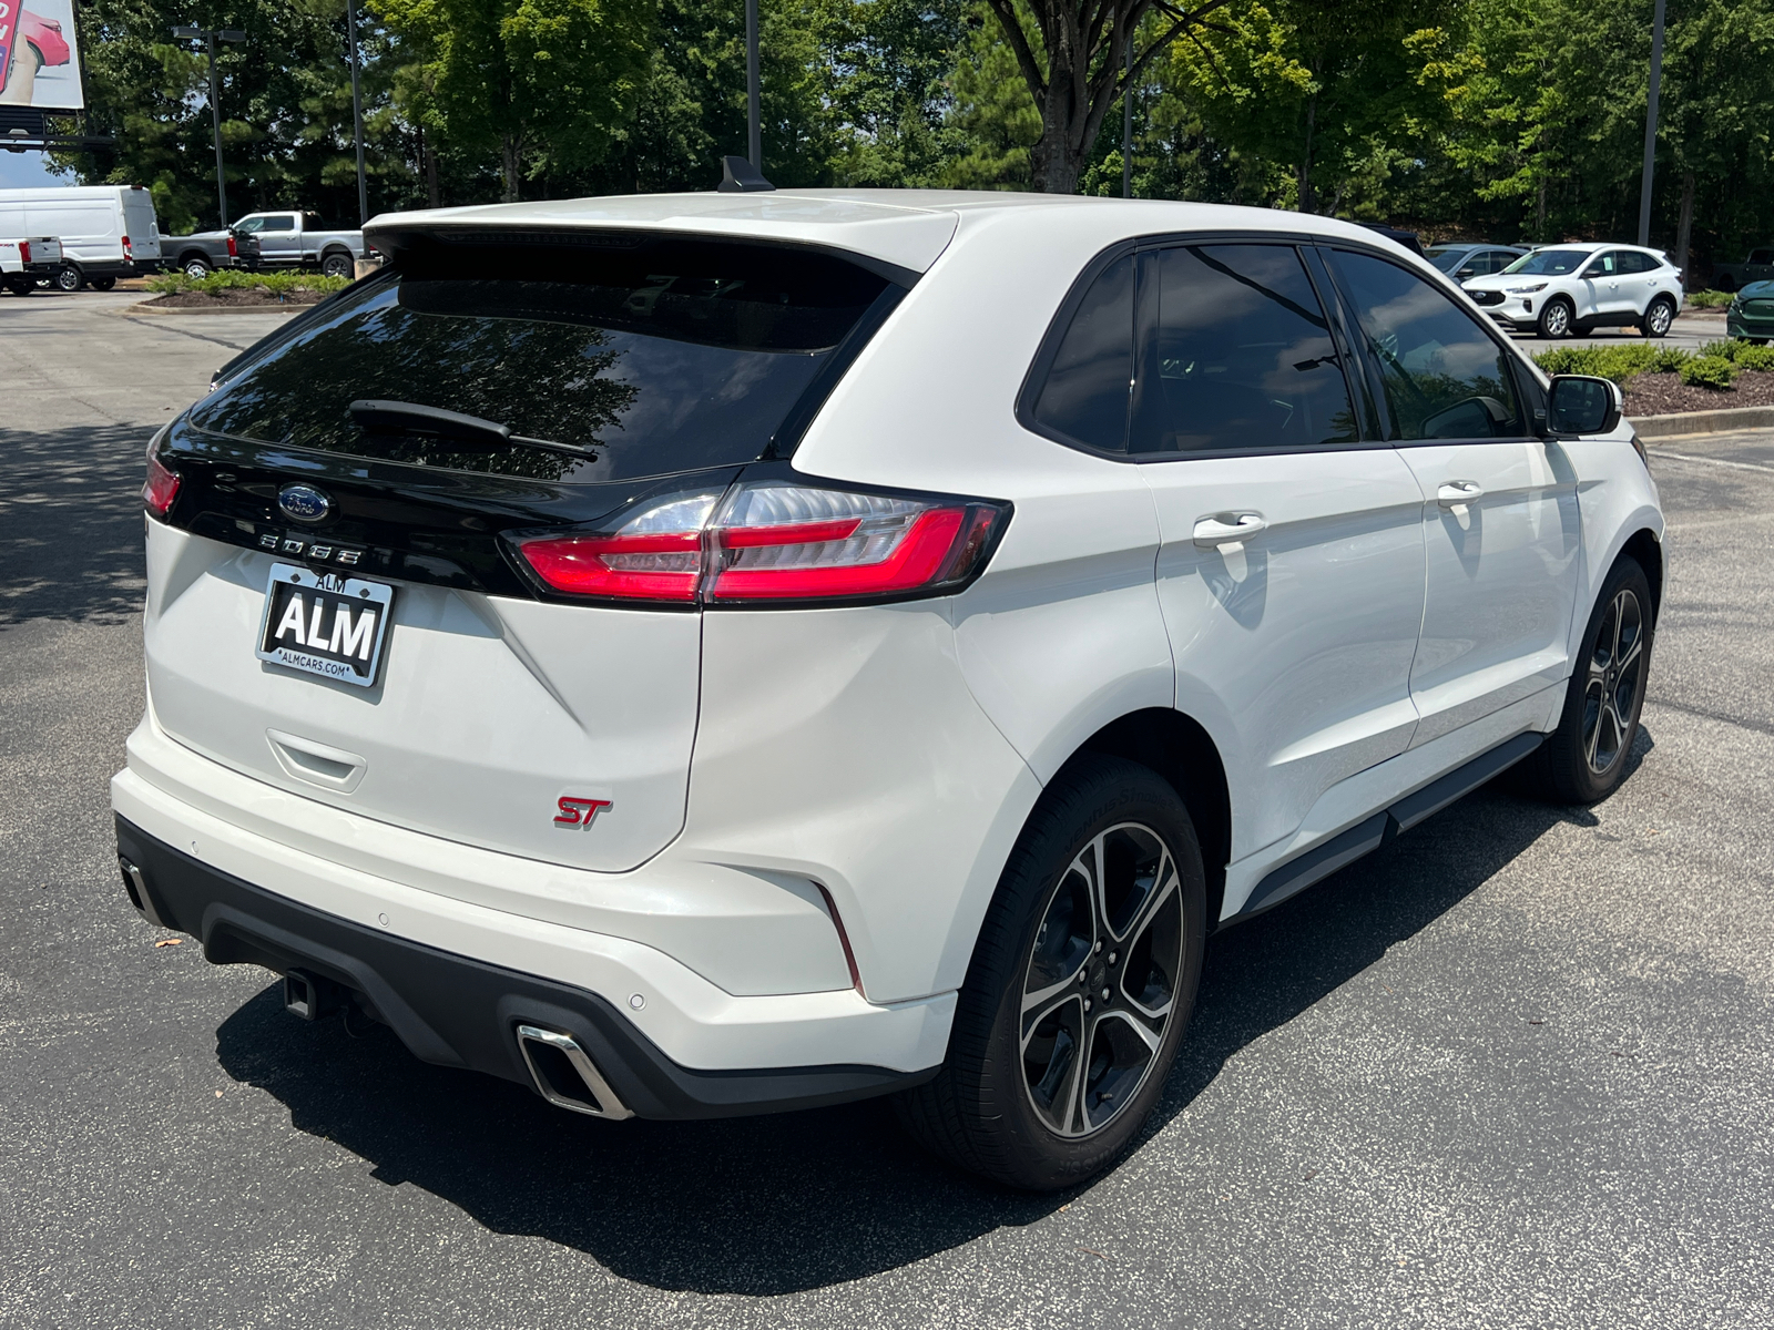
M 731 241 L 444 259 L 316 309 L 156 445 L 151 706 L 271 786 L 632 869 L 683 826 L 701 614 L 553 594 L 513 536 L 711 505 L 892 287 Z

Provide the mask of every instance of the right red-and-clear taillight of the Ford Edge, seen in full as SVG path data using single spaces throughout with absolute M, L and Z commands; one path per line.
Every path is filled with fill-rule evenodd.
M 718 504 L 718 507 L 717 507 Z M 1008 504 L 905 498 L 782 481 L 674 495 L 608 532 L 518 541 L 569 596 L 740 605 L 931 594 L 965 583 Z

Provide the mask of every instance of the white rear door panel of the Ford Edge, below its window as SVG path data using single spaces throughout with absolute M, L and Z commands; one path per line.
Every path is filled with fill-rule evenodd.
M 1226 763 L 1238 858 L 1410 743 L 1421 493 L 1393 449 L 1162 461 L 1139 473 L 1164 528 L 1158 599 L 1176 706 Z M 1217 512 L 1256 512 L 1268 527 L 1197 546 L 1196 523 Z

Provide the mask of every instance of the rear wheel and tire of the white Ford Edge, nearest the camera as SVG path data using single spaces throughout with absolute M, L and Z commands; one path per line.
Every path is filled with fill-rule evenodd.
M 1103 1170 L 1164 1092 L 1205 935 L 1201 849 L 1176 791 L 1137 763 L 1075 759 L 1004 865 L 949 1055 L 896 1098 L 901 1123 L 1006 1186 L 1050 1192 Z

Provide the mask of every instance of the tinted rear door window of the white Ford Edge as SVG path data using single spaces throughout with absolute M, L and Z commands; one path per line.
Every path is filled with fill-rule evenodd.
M 1355 415 L 1300 255 L 1286 245 L 1164 250 L 1135 452 L 1348 443 Z

